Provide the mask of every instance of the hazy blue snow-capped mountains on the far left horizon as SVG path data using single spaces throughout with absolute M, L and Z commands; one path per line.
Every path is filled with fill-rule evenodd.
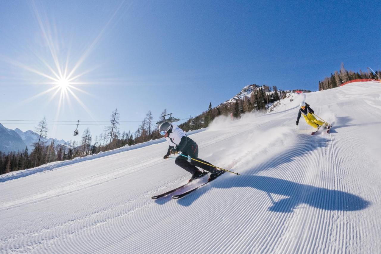
M 27 130 L 26 132 L 23 132 L 18 128 L 11 130 L 0 124 L 0 151 L 4 153 L 18 150 L 23 151 L 27 147 L 29 153 L 31 153 L 34 148 L 33 144 L 38 142 L 39 136 L 40 135 L 32 130 Z M 50 144 L 53 140 L 56 145 L 69 145 L 69 142 L 58 140 L 56 138 L 48 138 L 45 141 L 45 144 Z

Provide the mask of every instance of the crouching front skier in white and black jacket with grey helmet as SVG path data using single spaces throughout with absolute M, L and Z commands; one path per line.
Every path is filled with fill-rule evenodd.
M 164 155 L 164 159 L 168 159 L 170 154 L 181 153 L 185 156 L 189 155 L 198 161 L 212 165 L 207 161 L 197 158 L 199 154 L 199 147 L 197 146 L 197 143 L 187 137 L 187 135 L 177 125 L 169 122 L 163 122 L 159 126 L 159 132 L 169 143 L 169 148 L 167 153 Z M 210 172 L 211 174 L 209 179 L 215 178 L 220 173 L 220 171 L 215 167 L 205 165 L 198 161 L 191 160 L 189 162 L 186 157 L 179 155 L 175 159 L 174 163 L 192 174 L 192 178 L 189 181 L 204 175 L 203 172 L 197 169 L 197 167 Z

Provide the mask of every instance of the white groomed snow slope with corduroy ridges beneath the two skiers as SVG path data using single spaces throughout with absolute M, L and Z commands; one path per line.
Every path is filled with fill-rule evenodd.
M 0 252 L 379 253 L 381 84 L 294 97 L 190 135 L 200 158 L 242 175 L 176 201 L 150 198 L 189 178 L 160 141 L 3 177 Z M 331 133 L 296 129 L 302 100 Z

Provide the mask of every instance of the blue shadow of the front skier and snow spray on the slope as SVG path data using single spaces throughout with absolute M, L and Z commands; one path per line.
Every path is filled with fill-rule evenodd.
M 255 175 L 260 171 L 271 170 L 281 164 L 301 159 L 304 154 L 318 147 L 325 147 L 329 142 L 324 137 L 307 138 L 307 136 L 311 137 L 308 134 L 299 135 L 299 141 L 293 148 L 285 150 L 283 153 L 274 156 L 274 158 L 247 170 L 243 175 L 234 176 L 225 173 L 221 176 L 221 179 L 217 179 L 211 182 L 210 185 L 206 185 L 194 193 L 179 199 L 177 201 L 178 204 L 190 206 L 197 198 L 211 188 L 251 187 L 267 193 L 272 203 L 268 207 L 268 210 L 272 212 L 293 212 L 294 209 L 302 204 L 332 211 L 357 211 L 369 206 L 369 201 L 344 191 L 329 190 L 279 178 Z M 287 198 L 275 201 L 273 199 L 275 195 L 287 196 Z M 223 197 L 217 196 L 217 198 L 221 199 L 221 202 L 224 202 Z M 237 196 L 237 198 L 240 197 Z M 245 196 L 245 198 L 247 197 Z M 253 198 L 247 200 L 247 202 L 253 203 L 258 201 Z

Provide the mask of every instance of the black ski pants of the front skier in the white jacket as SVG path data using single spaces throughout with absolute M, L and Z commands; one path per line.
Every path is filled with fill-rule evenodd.
M 202 161 L 205 163 L 208 163 L 212 165 L 211 163 L 204 161 L 202 159 L 197 158 L 199 155 L 199 146 L 196 143 L 193 143 L 192 145 L 188 145 L 188 147 L 182 152 L 185 156 L 191 156 L 194 159 L 197 159 L 198 161 Z M 178 165 L 179 167 L 182 167 L 183 169 L 187 170 L 192 175 L 197 172 L 197 167 L 202 168 L 203 170 L 213 172 L 216 170 L 215 167 L 205 165 L 201 162 L 191 160 L 191 162 L 188 162 L 188 159 L 184 156 L 179 155 L 175 160 L 174 163 Z

